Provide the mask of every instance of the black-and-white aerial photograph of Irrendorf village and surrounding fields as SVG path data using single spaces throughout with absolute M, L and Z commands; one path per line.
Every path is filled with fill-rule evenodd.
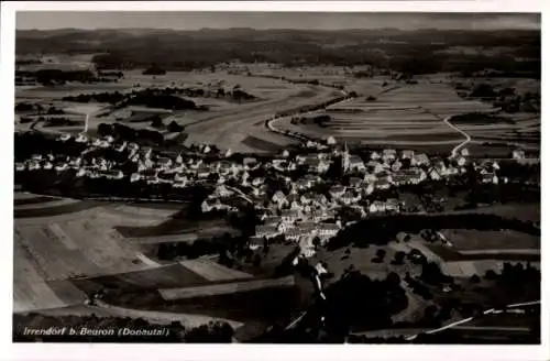
M 540 344 L 540 18 L 19 11 L 13 342 Z

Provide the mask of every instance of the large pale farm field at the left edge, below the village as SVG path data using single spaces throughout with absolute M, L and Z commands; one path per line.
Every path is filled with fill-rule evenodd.
M 123 241 L 113 229 L 117 225 L 152 225 L 164 220 L 150 215 L 151 209 L 150 214 L 124 215 L 97 203 L 94 207 L 82 201 L 59 206 L 68 200 L 16 193 L 14 198 L 16 310 L 82 302 L 84 294 L 68 281 L 70 277 L 144 270 L 156 264 L 145 262 L 148 260 L 140 248 Z M 48 207 L 52 204 L 55 206 Z M 86 207 L 82 209 L 81 205 Z M 18 214 L 20 207 L 24 209 Z

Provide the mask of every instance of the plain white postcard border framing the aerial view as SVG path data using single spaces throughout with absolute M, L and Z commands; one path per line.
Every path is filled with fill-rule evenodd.
M 356 11 L 387 11 L 387 12 L 542 12 L 543 1 L 189 1 L 189 2 L 2 2 L 1 4 L 1 56 L 0 56 L 0 132 L 3 145 L 0 152 L 1 164 L 8 172 L 12 172 L 13 163 L 13 103 L 14 103 L 14 25 L 15 11 L 333 11 L 333 12 L 356 12 Z M 548 58 L 550 44 L 547 37 L 542 36 L 543 58 Z M 543 87 L 550 81 L 548 72 L 543 72 Z M 544 98 L 546 91 L 542 90 Z M 542 103 L 546 105 L 544 99 Z M 546 119 L 547 107 L 542 109 L 542 119 Z M 542 122 L 542 134 L 544 133 L 544 122 Z M 541 147 L 541 156 L 544 160 L 549 155 L 547 147 Z M 4 173 L 4 175 L 8 173 Z M 175 360 L 278 360 L 289 359 L 316 359 L 316 360 L 550 360 L 548 326 L 550 325 L 547 298 L 548 267 L 542 267 L 542 344 L 537 347 L 520 346 L 395 346 L 395 344 L 348 344 L 342 346 L 199 346 L 199 344 L 13 344 L 11 343 L 12 322 L 12 247 L 13 239 L 13 174 L 3 178 L 1 196 L 4 203 L 1 212 L 1 229 L 3 239 L 0 242 L 2 250 L 0 282 L 3 286 L 1 298 L 0 319 L 0 353 L 9 360 L 84 360 L 84 359 L 132 359 L 132 360 L 157 360 L 160 358 Z M 542 184 L 548 178 L 546 167 L 542 167 Z M 542 199 L 542 217 L 546 215 L 546 201 Z M 542 239 L 546 233 L 546 221 L 542 221 Z M 546 250 L 546 245 L 542 247 Z M 548 256 L 542 252 L 542 264 L 547 264 Z

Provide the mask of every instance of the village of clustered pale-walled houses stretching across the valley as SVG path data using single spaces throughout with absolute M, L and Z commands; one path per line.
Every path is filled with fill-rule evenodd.
M 208 184 L 213 190 L 201 204 L 204 214 L 238 211 L 231 199 L 241 198 L 254 206 L 261 221 L 250 240 L 251 249 L 260 248 L 265 240 L 283 237 L 286 241 L 298 243 L 301 255 L 306 258 L 315 254 L 316 245 L 322 245 L 350 223 L 342 222 L 338 217 L 342 207 L 353 209 L 362 218 L 399 212 L 406 207 L 403 200 L 393 197 L 373 199 L 376 193 L 427 180 L 446 180 L 464 174 L 469 163 L 473 164 L 482 184 L 508 182 L 506 177 L 498 176 L 498 162 L 476 164 L 470 160 L 466 147 L 448 158 L 430 158 L 413 150 L 398 152 L 393 149 L 372 151 L 369 158 L 363 158 L 350 154 L 345 143 L 338 144 L 334 138 L 329 136 L 322 144 L 308 141 L 304 144 L 304 152 L 294 155 L 284 150 L 268 158 L 244 156 L 242 162 L 235 162 L 231 151 L 207 157 L 211 153 L 209 145 L 200 146 L 199 153 L 179 153 L 170 157 L 151 146 L 117 141 L 112 136 L 61 134 L 56 141 L 85 144 L 86 150 L 80 156 L 34 154 L 24 162 L 15 163 L 15 171 L 45 169 L 59 174 L 72 171 L 76 177 L 162 184 L 174 189 Z M 120 158 L 85 156 L 98 150 L 123 154 L 124 169 L 130 163 L 130 168 L 135 172 L 124 173 Z M 513 158 L 522 162 L 525 154 L 517 150 Z M 345 185 L 338 178 L 328 177 L 329 169 L 345 176 Z M 277 189 L 273 189 L 273 182 L 266 182 L 267 177 L 275 180 Z M 319 190 L 320 187 L 328 192 Z

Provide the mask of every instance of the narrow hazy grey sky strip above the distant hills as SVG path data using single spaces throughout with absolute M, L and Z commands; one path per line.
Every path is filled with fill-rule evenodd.
M 528 13 L 18 12 L 18 30 L 55 29 L 540 29 Z

